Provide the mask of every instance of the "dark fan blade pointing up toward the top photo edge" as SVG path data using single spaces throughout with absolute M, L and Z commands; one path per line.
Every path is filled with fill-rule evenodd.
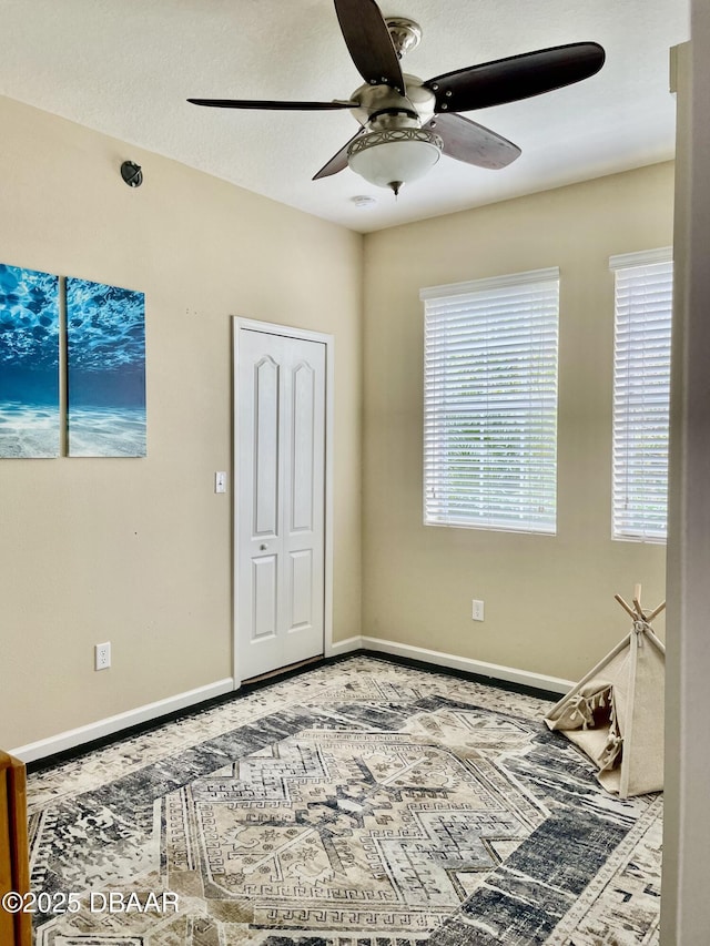
M 399 59 L 375 0 L 335 0 L 335 12 L 345 44 L 365 82 L 404 92 Z

